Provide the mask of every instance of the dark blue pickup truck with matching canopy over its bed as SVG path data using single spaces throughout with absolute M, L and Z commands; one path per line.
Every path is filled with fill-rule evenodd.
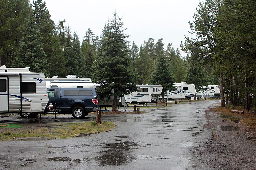
M 100 96 L 95 88 L 48 88 L 49 104 L 57 105 L 59 113 L 71 113 L 75 119 L 82 119 L 89 112 L 100 109 Z

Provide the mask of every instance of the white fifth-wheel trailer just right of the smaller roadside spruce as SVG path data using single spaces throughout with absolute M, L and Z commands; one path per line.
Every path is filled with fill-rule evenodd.
M 177 90 L 169 91 L 167 90 L 164 95 L 164 101 L 174 100 L 174 99 L 185 99 L 191 98 L 196 93 L 196 88 L 194 84 L 188 84 L 184 81 L 180 83 L 174 83 Z M 159 97 L 159 101 L 162 101 L 162 96 Z

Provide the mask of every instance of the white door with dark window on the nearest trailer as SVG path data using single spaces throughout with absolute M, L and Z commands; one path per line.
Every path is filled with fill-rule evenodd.
M 8 78 L 0 77 L 0 111 L 8 111 Z

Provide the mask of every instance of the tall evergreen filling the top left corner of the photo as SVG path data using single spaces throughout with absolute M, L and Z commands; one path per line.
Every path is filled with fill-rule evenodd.
M 0 65 L 12 67 L 24 32 L 23 24 L 31 12 L 28 0 L 0 1 Z

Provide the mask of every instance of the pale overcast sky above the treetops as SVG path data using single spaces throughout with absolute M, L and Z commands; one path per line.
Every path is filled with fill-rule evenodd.
M 32 2 L 33 0 L 30 0 Z M 144 40 L 153 38 L 155 43 L 161 37 L 165 46 L 180 49 L 184 35 L 190 30 L 188 20 L 192 20 L 199 0 L 45 0 L 51 19 L 58 23 L 65 19 L 66 25 L 76 30 L 82 42 L 88 28 L 100 37 L 102 29 L 113 13 L 122 17 L 125 33 L 130 45 L 134 41 L 138 48 Z M 181 55 L 185 53 L 181 51 Z

